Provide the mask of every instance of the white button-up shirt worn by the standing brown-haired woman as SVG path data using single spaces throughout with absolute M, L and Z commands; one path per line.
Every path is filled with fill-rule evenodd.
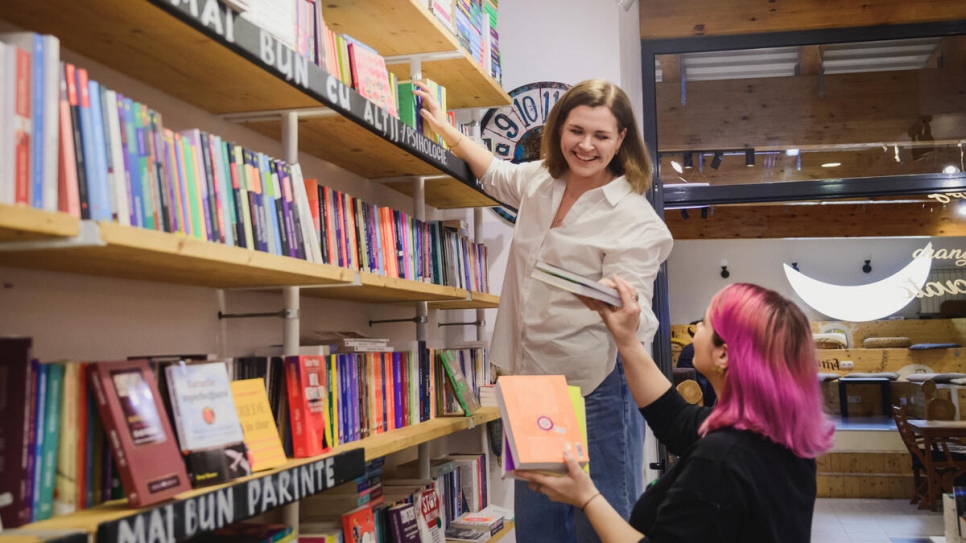
M 550 224 L 567 183 L 552 178 L 543 161 L 496 159 L 481 181 L 517 208 L 490 360 L 514 374 L 566 375 L 586 396 L 614 370 L 617 346 L 596 312 L 530 277 L 534 265 L 542 260 L 593 280 L 618 275 L 629 282 L 640 296 L 638 337 L 650 343 L 658 327 L 654 279 L 671 252 L 671 233 L 623 176 L 582 194 L 557 228 Z

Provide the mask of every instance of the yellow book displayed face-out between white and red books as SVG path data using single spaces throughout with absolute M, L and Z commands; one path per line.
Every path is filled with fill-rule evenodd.
M 284 464 L 285 450 L 278 437 L 275 417 L 268 404 L 268 393 L 263 379 L 245 379 L 231 382 L 231 394 L 235 409 L 245 433 L 245 445 L 252 464 L 252 472 L 262 471 Z

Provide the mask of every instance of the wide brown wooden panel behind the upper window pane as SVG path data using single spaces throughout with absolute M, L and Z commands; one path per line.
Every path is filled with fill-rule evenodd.
M 658 83 L 659 148 L 907 142 L 915 141 L 909 130 L 926 121 L 935 140 L 963 138 L 966 69 L 823 77 L 824 98 L 819 76 L 690 81 L 687 105 L 680 85 Z

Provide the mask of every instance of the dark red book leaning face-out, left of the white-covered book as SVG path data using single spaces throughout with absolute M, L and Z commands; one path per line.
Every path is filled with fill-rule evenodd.
M 147 360 L 90 365 L 90 385 L 131 507 L 191 489 Z

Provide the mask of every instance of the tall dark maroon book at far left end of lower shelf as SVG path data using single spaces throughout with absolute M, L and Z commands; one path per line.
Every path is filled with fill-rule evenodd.
M 31 521 L 33 485 L 28 476 L 27 454 L 30 437 L 30 351 L 32 341 L 25 337 L 0 338 L 0 496 L 9 504 L 0 507 L 4 528 Z

